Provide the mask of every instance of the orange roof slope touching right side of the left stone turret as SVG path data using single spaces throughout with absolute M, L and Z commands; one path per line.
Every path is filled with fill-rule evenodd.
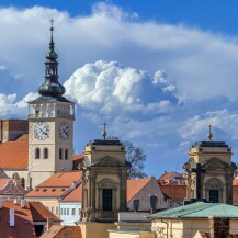
M 145 185 L 151 181 L 151 177 L 138 180 L 127 180 L 127 202 L 129 202 Z

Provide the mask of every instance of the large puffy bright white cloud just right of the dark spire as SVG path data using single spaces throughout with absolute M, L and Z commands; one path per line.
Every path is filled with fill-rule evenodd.
M 178 104 L 177 87 L 165 71 L 124 67 L 99 60 L 77 69 L 65 82 L 66 91 L 82 106 L 103 114 L 141 113 L 158 115 Z

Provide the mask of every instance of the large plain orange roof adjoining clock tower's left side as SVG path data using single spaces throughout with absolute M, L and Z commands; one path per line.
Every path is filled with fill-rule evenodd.
M 15 141 L 0 144 L 0 167 L 2 169 L 26 169 L 29 165 L 29 135 Z

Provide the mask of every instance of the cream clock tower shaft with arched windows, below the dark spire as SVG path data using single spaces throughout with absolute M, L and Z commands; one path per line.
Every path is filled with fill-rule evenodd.
M 71 171 L 73 120 L 73 103 L 30 103 L 30 188 L 35 188 L 35 185 L 45 181 L 55 172 Z

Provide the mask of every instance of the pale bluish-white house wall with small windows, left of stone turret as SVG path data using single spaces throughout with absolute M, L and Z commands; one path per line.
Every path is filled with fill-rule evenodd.
M 60 219 L 63 219 L 64 225 L 75 225 L 75 222 L 80 219 L 81 202 L 61 202 L 59 203 Z M 75 209 L 75 215 L 73 211 Z

